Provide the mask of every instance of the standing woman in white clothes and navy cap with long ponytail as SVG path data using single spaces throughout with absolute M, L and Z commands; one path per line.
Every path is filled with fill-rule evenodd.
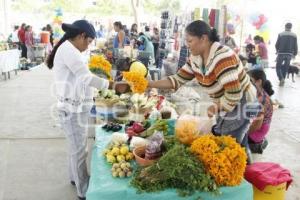
M 113 83 L 93 75 L 82 52 L 96 37 L 95 29 L 86 20 L 62 24 L 65 34 L 47 58 L 54 71 L 59 120 L 69 145 L 69 178 L 77 188 L 79 199 L 88 189 L 87 124 L 93 105 L 93 88 L 107 89 Z

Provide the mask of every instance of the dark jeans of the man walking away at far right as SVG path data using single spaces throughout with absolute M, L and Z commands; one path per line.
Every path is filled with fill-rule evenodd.
M 276 73 L 280 81 L 285 79 L 287 72 L 289 70 L 291 59 L 292 59 L 291 55 L 279 54 L 277 56 Z

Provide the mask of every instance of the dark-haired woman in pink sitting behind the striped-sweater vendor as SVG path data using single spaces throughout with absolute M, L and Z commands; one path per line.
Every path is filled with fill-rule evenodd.
M 254 119 L 249 129 L 249 147 L 252 153 L 262 153 L 267 146 L 265 136 L 269 132 L 273 116 L 273 105 L 270 96 L 274 94 L 274 91 L 263 70 L 251 70 L 248 73 L 252 82 L 256 85 L 258 101 L 262 105 L 261 112 Z

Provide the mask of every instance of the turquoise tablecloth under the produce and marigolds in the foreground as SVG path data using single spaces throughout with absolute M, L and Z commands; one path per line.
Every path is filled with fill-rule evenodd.
M 111 133 L 96 127 L 96 142 L 93 147 L 91 161 L 91 178 L 86 194 L 88 200 L 253 200 L 252 185 L 243 181 L 236 187 L 220 188 L 221 195 L 213 196 L 210 193 L 199 192 L 191 197 L 179 197 L 175 190 L 169 189 L 157 193 L 136 194 L 136 189 L 130 186 L 130 178 L 113 178 L 110 172 L 111 165 L 106 163 L 102 151 L 110 141 Z

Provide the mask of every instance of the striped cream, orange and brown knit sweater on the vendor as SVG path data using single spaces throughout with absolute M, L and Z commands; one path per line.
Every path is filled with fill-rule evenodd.
M 204 70 L 205 69 L 205 70 Z M 243 94 L 247 102 L 254 102 L 256 89 L 250 82 L 238 56 L 228 47 L 215 42 L 211 46 L 208 63 L 204 67 L 200 56 L 191 56 L 177 74 L 168 77 L 175 89 L 196 78 L 215 103 L 230 112 Z

